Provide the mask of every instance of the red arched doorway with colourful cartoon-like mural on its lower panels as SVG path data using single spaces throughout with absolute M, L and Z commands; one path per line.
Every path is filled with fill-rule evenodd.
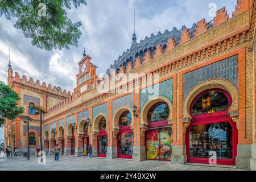
M 168 126 L 170 109 L 166 102 L 158 102 L 147 113 L 146 159 L 171 160 L 172 129 Z

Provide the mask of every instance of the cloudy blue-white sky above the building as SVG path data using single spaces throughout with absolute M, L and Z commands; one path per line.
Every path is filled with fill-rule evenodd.
M 0 80 L 7 82 L 9 47 L 11 64 L 19 75 L 27 75 L 48 84 L 73 90 L 76 85 L 77 63 L 82 58 L 84 47 L 98 66 L 97 74 L 105 73 L 110 64 L 131 46 L 133 35 L 133 14 L 136 10 L 135 32 L 137 42 L 158 31 L 178 29 L 185 24 L 205 18 L 208 21 L 210 3 L 217 9 L 226 6 L 231 17 L 237 0 L 87 0 L 87 6 L 68 11 L 73 22 L 80 21 L 81 39 L 78 47 L 44 51 L 31 46 L 31 40 L 13 27 L 15 19 L 0 17 Z M 0 129 L 0 142 L 3 140 Z

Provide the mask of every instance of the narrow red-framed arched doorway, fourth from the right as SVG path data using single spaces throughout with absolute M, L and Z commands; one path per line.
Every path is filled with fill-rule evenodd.
M 108 147 L 108 134 L 106 133 L 106 118 L 102 117 L 98 123 L 98 130 L 100 134 L 97 139 L 98 156 L 106 157 Z

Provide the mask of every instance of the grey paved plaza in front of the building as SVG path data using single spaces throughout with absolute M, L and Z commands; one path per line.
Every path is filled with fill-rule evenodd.
M 46 164 L 39 165 L 38 158 L 31 156 L 30 160 L 23 156 L 13 156 L 6 158 L 0 155 L 1 171 L 63 171 L 63 170 L 85 170 L 85 171 L 234 171 L 241 170 L 234 167 L 224 166 L 198 166 L 195 164 L 171 164 L 170 162 L 144 160 L 134 162 L 127 159 L 105 159 L 105 158 L 85 158 L 75 156 L 60 156 L 59 161 L 54 160 L 53 155 L 46 156 Z

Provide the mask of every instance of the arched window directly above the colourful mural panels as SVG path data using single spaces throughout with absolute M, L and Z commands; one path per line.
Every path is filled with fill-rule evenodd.
M 159 102 L 150 108 L 147 115 L 148 122 L 166 121 L 169 116 L 169 107 L 164 102 Z

